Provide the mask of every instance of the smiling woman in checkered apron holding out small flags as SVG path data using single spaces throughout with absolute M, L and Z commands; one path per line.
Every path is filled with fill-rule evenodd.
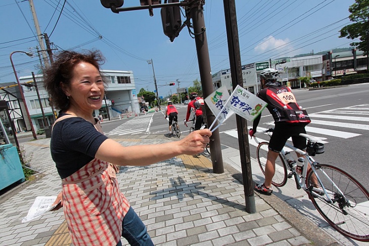
M 45 69 L 45 87 L 60 109 L 51 155 L 62 179 L 61 201 L 74 245 L 153 245 L 116 179 L 121 166 L 146 166 L 179 154 L 204 151 L 211 132 L 199 130 L 176 142 L 123 147 L 103 134 L 94 118 L 105 93 L 98 51 L 63 51 Z M 76 216 L 78 215 L 78 216 Z

